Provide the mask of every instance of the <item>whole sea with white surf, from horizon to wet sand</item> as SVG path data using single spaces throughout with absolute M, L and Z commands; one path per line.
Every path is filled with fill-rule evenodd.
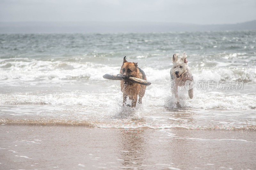
M 255 130 L 255 42 L 256 31 L 0 34 L 0 123 Z M 169 72 L 183 51 L 197 86 L 177 107 Z M 136 109 L 102 78 L 124 56 L 152 83 Z

